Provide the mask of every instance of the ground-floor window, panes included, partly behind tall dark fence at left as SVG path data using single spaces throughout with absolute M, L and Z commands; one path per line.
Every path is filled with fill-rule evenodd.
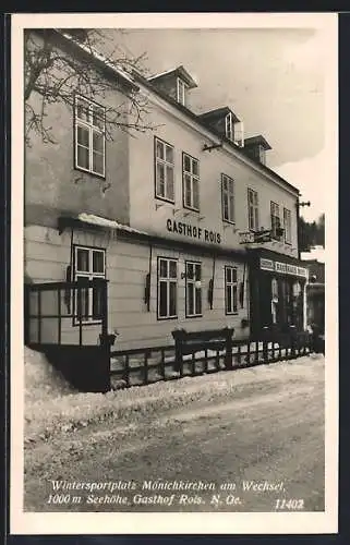
M 106 251 L 83 246 L 74 247 L 74 280 L 96 280 L 106 278 Z M 101 319 L 100 292 L 95 288 L 76 290 L 74 316 L 82 317 L 84 324 Z

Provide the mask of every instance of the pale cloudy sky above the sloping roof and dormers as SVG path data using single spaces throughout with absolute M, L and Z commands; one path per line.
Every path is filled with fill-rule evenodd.
M 246 137 L 263 134 L 267 166 L 295 185 L 307 220 L 325 211 L 325 48 L 316 28 L 128 28 L 118 44 L 146 53 L 144 69 L 180 64 L 195 78 L 190 107 L 229 106 Z M 329 184 L 328 184 L 329 186 Z

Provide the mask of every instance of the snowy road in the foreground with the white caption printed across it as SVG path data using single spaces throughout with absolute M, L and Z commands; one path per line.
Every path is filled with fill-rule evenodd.
M 322 511 L 324 364 L 128 429 L 105 422 L 38 444 L 25 491 L 31 511 Z

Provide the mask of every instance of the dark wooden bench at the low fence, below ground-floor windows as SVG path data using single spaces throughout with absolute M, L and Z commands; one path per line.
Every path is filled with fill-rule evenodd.
M 183 375 L 183 356 L 194 354 L 202 350 L 225 350 L 225 367 L 232 368 L 232 337 L 234 329 L 225 327 L 224 329 L 210 329 L 204 331 L 186 331 L 176 329 L 172 331 L 174 339 L 176 363 L 174 371 L 180 371 Z

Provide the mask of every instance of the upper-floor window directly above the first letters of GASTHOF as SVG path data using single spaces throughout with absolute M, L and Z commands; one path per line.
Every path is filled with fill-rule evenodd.
M 155 138 L 155 158 L 156 197 L 173 203 L 173 147 Z

